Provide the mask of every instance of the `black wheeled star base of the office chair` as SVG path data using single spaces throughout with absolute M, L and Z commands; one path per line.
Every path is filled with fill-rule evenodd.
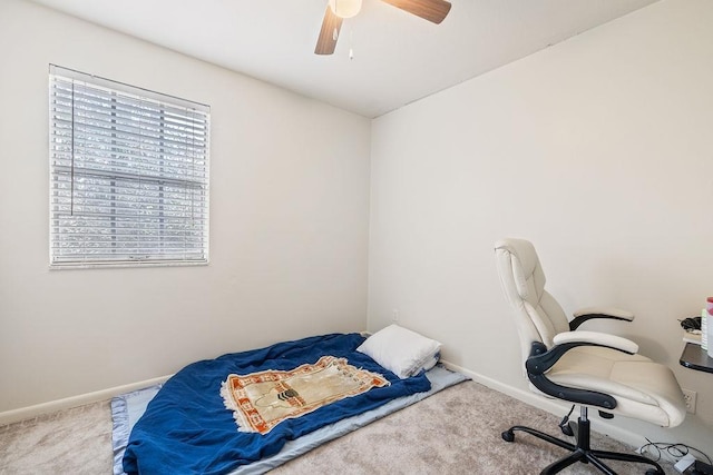
M 595 451 L 589 446 L 590 438 L 590 427 L 589 420 L 586 415 L 586 407 L 582 407 L 582 413 L 576 423 L 569 422 L 569 426 L 572 427 L 575 434 L 575 444 L 570 444 L 566 441 L 561 441 L 559 438 L 553 437 L 549 434 L 545 434 L 544 432 L 536 431 L 530 427 L 525 426 L 512 426 L 508 431 L 502 433 L 502 439 L 506 442 L 515 441 L 515 432 L 524 432 L 530 435 L 534 435 L 537 438 L 540 438 L 550 444 L 557 445 L 558 447 L 565 448 L 570 452 L 569 455 L 549 464 L 545 467 L 540 475 L 550 475 L 561 472 L 568 466 L 582 462 L 584 464 L 592 464 L 597 467 L 602 473 L 607 475 L 616 475 L 611 467 L 608 467 L 604 462 L 604 459 L 609 461 L 624 461 L 624 462 L 634 462 L 639 464 L 647 464 L 652 467 L 646 471 L 646 475 L 664 475 L 664 469 L 656 462 L 646 458 L 642 455 L 635 454 L 622 454 L 617 452 L 606 452 L 606 451 Z

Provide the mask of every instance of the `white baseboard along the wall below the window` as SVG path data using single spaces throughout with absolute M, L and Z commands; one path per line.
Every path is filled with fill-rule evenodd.
M 98 403 L 100 400 L 110 399 L 119 394 L 129 393 L 131 390 L 141 389 L 155 384 L 164 383 L 169 376 L 160 376 L 153 379 L 146 379 L 138 383 L 126 384 L 124 386 L 110 387 L 94 393 L 80 394 L 78 396 L 66 397 L 64 399 L 50 400 L 49 403 L 37 404 L 35 406 L 20 407 L 19 409 L 6 410 L 0 413 L 0 425 L 12 424 L 20 420 L 31 419 L 47 413 L 55 413 L 61 409 L 84 406 L 86 404 Z

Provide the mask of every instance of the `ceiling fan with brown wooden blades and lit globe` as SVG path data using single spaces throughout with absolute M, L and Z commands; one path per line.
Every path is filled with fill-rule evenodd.
M 381 0 L 411 14 L 439 24 L 450 11 L 446 0 Z M 329 0 L 322 29 L 316 40 L 315 55 L 332 55 L 344 18 L 354 17 L 361 10 L 362 0 Z

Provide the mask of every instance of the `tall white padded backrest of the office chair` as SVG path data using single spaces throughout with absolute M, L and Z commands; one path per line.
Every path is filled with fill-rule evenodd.
M 557 300 L 545 290 L 545 273 L 535 247 L 525 239 L 507 238 L 495 245 L 500 284 L 514 310 L 522 360 L 534 342 L 548 348 L 555 335 L 569 331 L 569 320 Z

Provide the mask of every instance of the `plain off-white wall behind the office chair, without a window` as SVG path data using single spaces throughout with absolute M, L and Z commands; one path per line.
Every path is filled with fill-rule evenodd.
M 713 375 L 678 365 L 676 320 L 713 295 L 711 26 L 712 1 L 662 1 L 375 119 L 369 328 L 398 309 L 446 359 L 527 393 L 494 243 L 529 238 L 568 313 L 633 310 L 589 328 L 697 392 L 677 432 L 615 424 L 713 454 Z

